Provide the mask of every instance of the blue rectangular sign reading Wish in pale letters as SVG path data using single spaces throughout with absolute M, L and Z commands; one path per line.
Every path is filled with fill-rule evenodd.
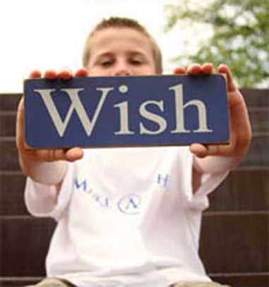
M 229 141 L 222 75 L 30 79 L 24 92 L 32 148 Z

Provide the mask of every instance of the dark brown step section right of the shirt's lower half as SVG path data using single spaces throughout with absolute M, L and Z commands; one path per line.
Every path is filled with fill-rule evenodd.
M 208 273 L 269 271 L 269 212 L 204 214 L 201 258 Z

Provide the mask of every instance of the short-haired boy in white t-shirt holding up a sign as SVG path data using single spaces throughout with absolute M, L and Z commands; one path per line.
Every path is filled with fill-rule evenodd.
M 160 49 L 128 18 L 109 18 L 90 34 L 76 76 L 153 75 L 162 72 Z M 185 73 L 178 68 L 177 73 Z M 41 286 L 220 286 L 210 282 L 198 257 L 207 195 L 239 164 L 251 140 L 243 97 L 229 68 L 229 145 L 117 149 L 28 150 L 23 99 L 17 146 L 28 175 L 25 202 L 35 216 L 58 222 Z M 193 64 L 186 73 L 213 73 Z M 40 78 L 32 72 L 31 78 Z M 68 71 L 47 71 L 64 78 Z

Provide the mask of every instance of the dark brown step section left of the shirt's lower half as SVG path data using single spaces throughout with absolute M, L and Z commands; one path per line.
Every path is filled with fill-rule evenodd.
M 55 223 L 32 216 L 0 216 L 1 276 L 44 276 Z

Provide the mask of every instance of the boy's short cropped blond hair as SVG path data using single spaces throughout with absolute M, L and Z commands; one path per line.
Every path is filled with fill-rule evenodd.
M 85 42 L 85 47 L 83 51 L 83 66 L 85 68 L 87 68 L 90 59 L 90 39 L 92 39 L 92 37 L 97 32 L 107 28 L 131 28 L 133 30 L 141 32 L 143 35 L 148 37 L 153 49 L 153 58 L 155 61 L 156 73 L 162 73 L 162 53 L 160 51 L 160 47 L 157 45 L 157 42 L 155 42 L 155 39 L 151 37 L 150 33 L 140 23 L 138 23 L 138 21 L 123 17 L 111 17 L 108 19 L 104 19 L 95 26 L 92 32 L 90 32 L 90 35 Z

